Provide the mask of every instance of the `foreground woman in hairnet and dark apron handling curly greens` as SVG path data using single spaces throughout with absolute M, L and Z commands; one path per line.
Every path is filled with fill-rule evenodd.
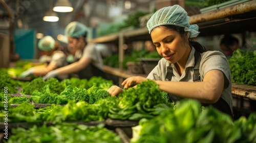
M 198 26 L 189 25 L 187 12 L 179 5 L 158 10 L 147 22 L 156 50 L 163 58 L 144 77 L 130 77 L 122 86 L 128 88 L 147 79 L 169 93 L 173 102 L 196 99 L 204 106 L 213 105 L 232 116 L 231 74 L 225 55 L 207 51 L 192 38 Z M 118 86 L 108 89 L 111 96 L 123 92 Z

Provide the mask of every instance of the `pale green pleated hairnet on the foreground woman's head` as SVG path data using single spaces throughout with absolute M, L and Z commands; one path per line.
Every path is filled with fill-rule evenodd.
M 189 38 L 197 37 L 198 25 L 189 24 L 189 16 L 187 12 L 179 5 L 164 7 L 157 10 L 151 18 L 147 21 L 147 29 L 149 33 L 158 26 L 161 25 L 175 25 L 184 27 L 185 31 L 189 31 Z

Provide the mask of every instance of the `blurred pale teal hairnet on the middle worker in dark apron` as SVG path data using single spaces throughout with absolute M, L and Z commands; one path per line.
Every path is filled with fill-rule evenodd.
M 88 28 L 80 22 L 70 22 L 65 28 L 65 35 L 70 37 L 86 37 Z

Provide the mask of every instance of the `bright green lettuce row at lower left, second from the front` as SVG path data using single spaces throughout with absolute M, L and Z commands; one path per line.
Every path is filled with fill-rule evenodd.
M 3 118 L 0 122 L 5 122 L 5 107 L 8 106 L 9 123 L 51 123 L 59 124 L 63 122 L 102 122 L 108 117 L 109 109 L 113 108 L 119 99 L 117 97 L 106 97 L 99 99 L 93 104 L 86 101 L 68 101 L 66 105 L 52 104 L 47 107 L 35 108 L 29 102 L 23 102 L 16 107 L 0 102 L 0 113 Z

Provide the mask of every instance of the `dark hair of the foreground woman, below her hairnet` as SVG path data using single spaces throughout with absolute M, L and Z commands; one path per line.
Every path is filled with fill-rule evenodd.
M 166 29 L 174 30 L 180 34 L 180 36 L 185 39 L 185 30 L 184 27 L 174 26 L 174 25 L 162 25 Z M 194 41 L 193 39 L 189 38 L 188 43 L 190 46 L 193 46 L 196 51 L 203 53 L 206 52 L 206 49 L 203 45 L 201 45 L 199 42 Z

